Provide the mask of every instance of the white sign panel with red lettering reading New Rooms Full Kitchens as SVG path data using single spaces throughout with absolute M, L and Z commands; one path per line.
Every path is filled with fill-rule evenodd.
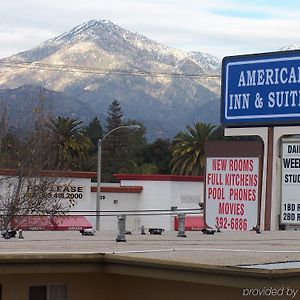
M 255 227 L 258 181 L 258 157 L 208 157 L 206 224 L 222 230 L 250 230 Z

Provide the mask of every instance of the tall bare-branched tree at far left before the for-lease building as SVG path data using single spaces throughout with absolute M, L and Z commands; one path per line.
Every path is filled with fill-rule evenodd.
M 8 229 L 27 222 L 27 216 L 66 214 L 75 204 L 66 199 L 64 193 L 57 192 L 59 186 L 69 186 L 70 180 L 49 176 L 43 170 L 55 170 L 53 147 L 46 130 L 47 117 L 43 112 L 43 98 L 40 106 L 35 107 L 36 119 L 26 137 L 18 139 L 14 147 L 0 151 L 2 167 L 8 166 L 5 176 L 0 176 L 0 226 Z M 0 139 L 0 144 L 3 139 Z M 11 146 L 10 141 L 8 141 Z M 2 147 L 4 150 L 5 147 Z M 0 146 L 1 150 L 1 146 Z M 9 161 L 9 164 L 7 162 Z M 1 159 L 0 159 L 1 163 Z M 6 163 L 6 164 L 5 164 Z M 59 173 L 59 172 L 58 172 Z M 12 222 L 17 221 L 17 222 Z M 15 224 L 15 225 L 14 225 Z M 17 225 L 16 225 L 17 224 Z M 17 228 L 12 228 L 17 229 Z

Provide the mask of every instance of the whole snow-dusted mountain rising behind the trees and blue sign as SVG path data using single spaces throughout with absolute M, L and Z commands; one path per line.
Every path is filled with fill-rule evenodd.
M 219 121 L 220 68 L 209 54 L 169 48 L 110 21 L 92 20 L 0 60 L 0 89 L 5 94 L 42 86 L 98 116 L 117 99 L 125 117 L 144 122 L 155 138 L 194 121 Z M 210 103 L 208 114 L 202 108 Z

